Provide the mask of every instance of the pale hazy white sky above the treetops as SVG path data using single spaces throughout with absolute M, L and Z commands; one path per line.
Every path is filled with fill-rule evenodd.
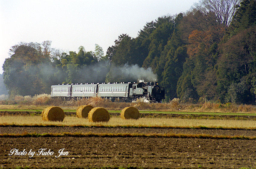
M 120 34 L 135 38 L 147 22 L 186 12 L 198 0 L 0 0 L 0 74 L 11 46 L 52 41 L 64 51 L 106 53 Z

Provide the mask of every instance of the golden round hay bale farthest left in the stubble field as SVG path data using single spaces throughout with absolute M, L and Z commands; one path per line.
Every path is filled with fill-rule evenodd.
M 63 121 L 64 111 L 60 107 L 48 107 L 44 109 L 42 120 L 45 121 Z

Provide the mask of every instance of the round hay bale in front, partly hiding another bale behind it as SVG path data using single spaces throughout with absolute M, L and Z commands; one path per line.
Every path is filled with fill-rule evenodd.
M 95 107 L 89 111 L 88 120 L 90 122 L 107 122 L 110 119 L 110 115 L 105 108 Z

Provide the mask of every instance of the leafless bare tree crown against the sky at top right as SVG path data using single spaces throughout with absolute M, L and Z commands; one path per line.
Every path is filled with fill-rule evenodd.
M 205 13 L 214 12 L 216 21 L 226 30 L 236 13 L 237 5 L 239 5 L 241 1 L 242 0 L 201 0 L 198 4 L 195 4 L 195 8 Z

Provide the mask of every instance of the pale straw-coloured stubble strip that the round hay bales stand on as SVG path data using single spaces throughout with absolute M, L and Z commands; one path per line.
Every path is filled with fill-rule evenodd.
M 64 125 L 64 126 L 147 126 L 147 127 L 223 127 L 223 128 L 256 128 L 253 120 L 202 120 L 179 118 L 139 118 L 124 120 L 111 117 L 108 122 L 89 122 L 88 118 L 65 117 L 63 122 L 43 121 L 40 116 L 1 116 L 0 124 L 16 125 Z

